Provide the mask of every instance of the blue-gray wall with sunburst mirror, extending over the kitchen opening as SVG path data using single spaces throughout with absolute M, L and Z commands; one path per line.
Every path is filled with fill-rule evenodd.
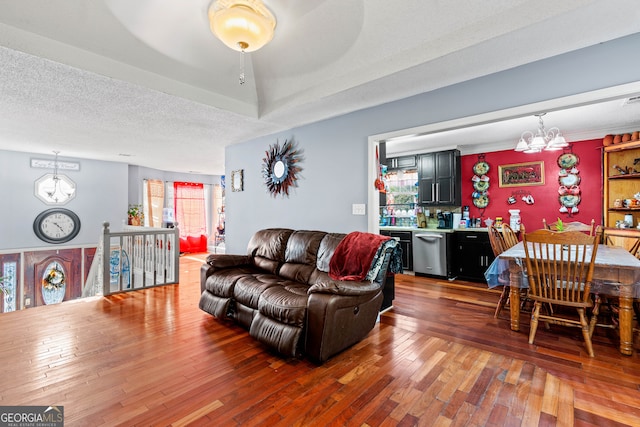
M 334 119 L 227 147 L 225 173 L 244 170 L 243 192 L 226 194 L 227 253 L 244 253 L 265 227 L 335 232 L 367 230 L 351 214 L 366 203 L 370 135 L 438 123 L 639 80 L 640 34 Z M 293 138 L 303 171 L 288 198 L 272 198 L 261 175 L 269 145 Z M 368 206 L 367 206 L 368 209 Z

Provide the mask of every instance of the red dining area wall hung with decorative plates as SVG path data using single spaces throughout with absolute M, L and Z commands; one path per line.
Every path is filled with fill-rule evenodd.
M 577 168 L 580 181 L 579 212 L 569 217 L 566 213 L 559 212 L 558 201 L 558 157 L 562 151 L 547 151 L 536 154 L 518 153 L 513 150 L 495 151 L 485 154 L 485 161 L 489 164 L 489 205 L 482 212 L 473 205 L 472 193 L 473 165 L 478 161 L 478 155 L 462 156 L 462 205 L 469 206 L 469 216 L 494 219 L 501 216 L 505 222 L 509 221 L 509 209 L 520 209 L 522 223 L 527 230 L 536 230 L 542 227 L 542 218 L 547 222 L 555 222 L 558 218 L 563 221 L 591 222 L 595 219 L 596 225 L 602 224 L 603 205 L 603 181 L 602 181 L 602 139 L 579 141 L 572 143 L 572 151 L 578 156 Z M 542 160 L 544 162 L 544 185 L 505 187 L 500 188 L 498 179 L 498 166 L 525 163 Z M 534 199 L 532 205 L 522 201 L 522 193 L 531 194 Z M 516 195 L 516 203 L 509 205 L 507 199 Z M 484 226 L 484 224 L 483 224 Z

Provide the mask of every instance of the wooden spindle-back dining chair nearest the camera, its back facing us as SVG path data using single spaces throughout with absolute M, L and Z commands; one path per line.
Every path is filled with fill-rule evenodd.
M 588 322 L 587 309 L 593 307 L 597 313 L 595 304 L 599 304 L 599 300 L 594 304 L 590 293 L 599 237 L 579 231 L 559 233 L 544 229 L 523 235 L 529 298 L 534 301 L 529 344 L 533 344 L 538 322 L 542 320 L 581 328 L 587 353 L 594 356 L 590 323 L 595 324 L 595 317 Z M 554 310 L 541 313 L 543 304 Z M 567 313 L 566 309 L 572 308 L 578 313 L 577 319 Z

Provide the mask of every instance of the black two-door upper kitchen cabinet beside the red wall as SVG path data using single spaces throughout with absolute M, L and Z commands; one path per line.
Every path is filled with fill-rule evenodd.
M 421 154 L 418 157 L 418 177 L 421 205 L 462 204 L 460 151 Z

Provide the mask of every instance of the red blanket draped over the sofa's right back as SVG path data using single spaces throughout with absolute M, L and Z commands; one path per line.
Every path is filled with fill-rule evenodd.
M 364 280 L 380 245 L 390 237 L 354 231 L 336 247 L 329 262 L 333 280 Z

